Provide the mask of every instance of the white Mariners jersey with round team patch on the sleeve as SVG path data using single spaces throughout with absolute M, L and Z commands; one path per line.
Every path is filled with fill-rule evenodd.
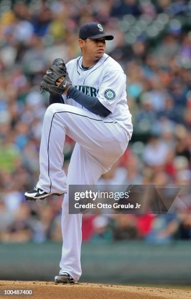
M 127 105 L 126 75 L 122 67 L 107 54 L 88 70 L 83 70 L 81 64 L 82 56 L 66 64 L 72 84 L 86 95 L 97 97 L 112 112 L 109 118 L 117 121 L 131 139 L 132 115 Z M 67 99 L 66 96 L 63 99 L 65 104 L 81 107 L 73 99 Z

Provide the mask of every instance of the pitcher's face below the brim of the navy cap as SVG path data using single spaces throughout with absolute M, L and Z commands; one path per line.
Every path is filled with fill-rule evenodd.
M 81 40 L 82 41 L 82 40 Z M 105 53 L 105 38 L 86 39 L 80 45 L 83 57 L 99 60 Z

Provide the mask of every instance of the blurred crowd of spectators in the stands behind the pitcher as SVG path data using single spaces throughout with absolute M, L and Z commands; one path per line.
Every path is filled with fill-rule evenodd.
M 80 54 L 78 28 L 98 21 L 127 75 L 134 133 L 99 184 L 191 184 L 191 1 L 0 1 L 0 241 L 61 240 L 61 197 L 25 202 L 39 175 L 52 61 Z M 66 139 L 67 173 L 74 141 Z M 83 215 L 83 241 L 191 239 L 191 198 L 171 214 Z

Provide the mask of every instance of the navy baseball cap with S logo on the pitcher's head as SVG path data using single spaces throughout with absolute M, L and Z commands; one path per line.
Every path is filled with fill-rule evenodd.
M 113 35 L 105 34 L 101 24 L 96 22 L 89 22 L 82 25 L 79 29 L 79 39 L 98 39 L 105 38 L 107 41 L 114 39 Z

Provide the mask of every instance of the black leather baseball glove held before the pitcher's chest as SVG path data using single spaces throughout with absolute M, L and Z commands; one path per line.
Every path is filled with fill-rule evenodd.
M 57 80 L 61 78 L 63 81 L 59 86 L 56 85 Z M 40 90 L 48 91 L 50 93 L 62 93 L 70 86 L 72 82 L 70 80 L 69 74 L 67 72 L 66 65 L 61 58 L 54 60 L 53 64 L 46 71 L 43 80 L 40 83 Z

